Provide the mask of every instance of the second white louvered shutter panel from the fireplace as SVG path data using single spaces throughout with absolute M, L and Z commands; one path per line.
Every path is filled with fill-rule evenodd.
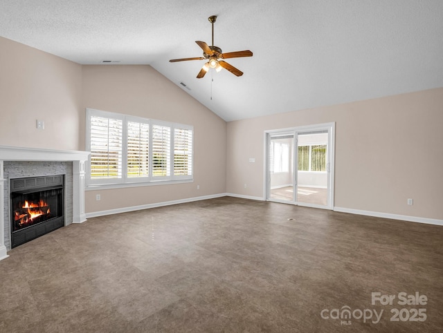
M 149 176 L 150 125 L 127 122 L 127 177 Z

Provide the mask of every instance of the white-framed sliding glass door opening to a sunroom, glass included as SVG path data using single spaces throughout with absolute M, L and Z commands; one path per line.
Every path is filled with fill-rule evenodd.
M 335 124 L 267 131 L 266 199 L 334 208 Z

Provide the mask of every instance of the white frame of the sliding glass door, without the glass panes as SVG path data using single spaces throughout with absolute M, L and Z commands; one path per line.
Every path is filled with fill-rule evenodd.
M 293 133 L 294 138 L 294 144 L 293 144 L 293 173 L 294 173 L 294 198 L 297 198 L 296 192 L 297 191 L 297 176 L 298 176 L 298 134 L 304 134 L 304 133 L 310 133 L 310 132 L 316 132 L 316 131 L 327 131 L 328 139 L 327 139 L 327 205 L 319 205 L 319 204 L 309 204 L 306 202 L 298 202 L 295 199 L 293 201 L 283 201 L 283 200 L 271 200 L 269 198 L 269 193 L 271 191 L 271 177 L 270 177 L 270 170 L 269 170 L 269 147 L 271 144 L 271 135 L 276 134 L 289 134 Z M 322 209 L 334 209 L 334 169 L 335 169 L 335 122 L 328 122 L 324 124 L 314 124 L 314 125 L 306 125 L 306 126 L 296 126 L 296 127 L 290 127 L 286 129 L 274 129 L 274 130 L 268 130 L 264 131 L 264 168 L 263 168 L 263 200 L 265 201 L 273 201 L 273 202 L 283 202 L 287 204 L 296 204 L 298 206 L 305 206 L 305 207 L 314 207 L 314 208 L 322 208 Z

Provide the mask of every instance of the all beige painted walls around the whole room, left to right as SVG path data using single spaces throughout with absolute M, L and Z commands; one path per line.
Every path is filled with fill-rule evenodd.
M 226 125 L 150 66 L 80 66 L 3 37 L 0 50 L 0 145 L 84 150 L 86 107 L 194 126 L 194 183 L 88 191 L 87 213 L 224 192 L 262 198 L 264 131 L 336 122 L 336 207 L 443 218 L 443 88 Z

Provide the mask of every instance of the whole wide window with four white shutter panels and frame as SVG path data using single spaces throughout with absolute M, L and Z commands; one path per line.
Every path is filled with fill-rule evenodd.
M 90 185 L 192 180 L 192 126 L 87 109 Z

